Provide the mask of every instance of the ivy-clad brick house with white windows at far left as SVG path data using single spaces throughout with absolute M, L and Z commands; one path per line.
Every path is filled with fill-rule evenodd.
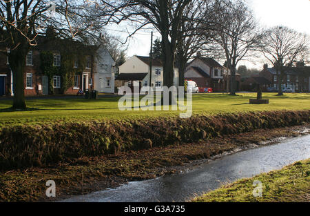
M 37 37 L 37 46 L 34 46 L 26 57 L 24 72 L 25 96 L 76 95 L 79 90 L 93 89 L 95 50 L 95 46 L 85 46 L 79 41 Z M 43 71 L 41 55 L 44 52 L 49 52 L 52 55 L 52 67 L 59 72 L 47 75 Z M 71 56 L 74 59 L 72 61 L 74 74 L 70 78 L 72 85 L 67 88 L 63 86 L 65 78 L 61 73 L 64 55 Z M 85 66 L 79 72 L 77 56 L 83 56 L 83 64 Z M 0 53 L 0 96 L 14 95 L 12 86 L 12 71 L 8 64 L 8 58 L 5 54 Z

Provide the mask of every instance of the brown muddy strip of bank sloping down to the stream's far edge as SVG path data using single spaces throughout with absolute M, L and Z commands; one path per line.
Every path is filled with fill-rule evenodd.
M 156 147 L 101 157 L 81 157 L 71 163 L 59 163 L 55 166 L 10 170 L 0 173 L 0 200 L 55 201 L 70 195 L 113 188 L 127 181 L 178 173 L 199 166 L 203 160 L 245 148 L 272 144 L 281 139 L 279 137 L 307 134 L 309 128 L 309 124 L 305 124 L 293 128 L 260 129 L 200 140 L 194 144 Z M 45 197 L 45 183 L 50 179 L 56 182 L 56 199 Z

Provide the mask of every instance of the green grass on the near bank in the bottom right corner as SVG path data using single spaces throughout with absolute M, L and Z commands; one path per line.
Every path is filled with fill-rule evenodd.
M 262 182 L 262 197 L 254 197 L 255 180 Z M 241 179 L 193 199 L 193 202 L 310 202 L 310 159 L 282 170 Z

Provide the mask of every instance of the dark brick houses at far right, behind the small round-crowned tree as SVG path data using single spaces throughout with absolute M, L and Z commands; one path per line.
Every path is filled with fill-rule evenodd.
M 260 77 L 265 77 L 270 81 L 270 87 L 278 89 L 278 76 L 275 68 L 268 68 L 265 64 Z M 291 88 L 293 92 L 309 92 L 310 67 L 304 66 L 304 63 L 296 63 L 295 66 L 286 68 L 282 77 L 282 88 Z

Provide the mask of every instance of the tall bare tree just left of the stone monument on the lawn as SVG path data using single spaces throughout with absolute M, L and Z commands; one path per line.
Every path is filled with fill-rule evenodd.
M 253 12 L 241 0 L 215 0 L 213 12 L 206 19 L 214 19 L 214 46 L 207 49 L 225 57 L 231 71 L 230 95 L 236 95 L 236 66 L 254 50 L 261 35 Z

